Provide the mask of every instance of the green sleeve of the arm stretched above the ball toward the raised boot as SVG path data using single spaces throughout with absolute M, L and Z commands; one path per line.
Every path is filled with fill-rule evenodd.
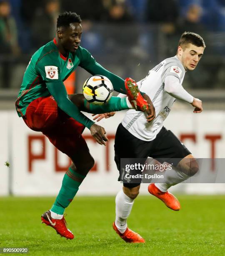
M 117 92 L 121 92 L 126 94 L 127 91 L 125 89 L 124 80 L 118 77 L 115 74 L 112 74 L 107 69 L 103 68 L 100 64 L 98 64 L 95 59 L 92 57 L 89 51 L 80 47 L 80 64 L 79 66 L 83 69 L 87 70 L 92 75 L 102 75 L 110 79 L 113 85 L 113 89 Z

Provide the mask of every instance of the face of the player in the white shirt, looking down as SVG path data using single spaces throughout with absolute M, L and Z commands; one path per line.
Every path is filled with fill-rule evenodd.
M 183 63 L 186 70 L 194 70 L 203 56 L 203 47 L 198 47 L 193 44 L 188 44 L 184 49 L 178 47 L 178 57 Z

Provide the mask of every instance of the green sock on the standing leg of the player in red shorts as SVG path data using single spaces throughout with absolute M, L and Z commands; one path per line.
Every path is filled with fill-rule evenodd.
M 69 168 L 63 177 L 62 187 L 50 210 L 57 214 L 63 214 L 65 208 L 73 200 L 73 197 L 75 197 L 79 186 L 85 177 L 86 176 L 78 174 Z

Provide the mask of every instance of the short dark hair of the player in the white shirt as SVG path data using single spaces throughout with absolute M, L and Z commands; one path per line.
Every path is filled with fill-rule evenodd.
M 193 44 L 205 49 L 205 42 L 201 36 L 193 32 L 184 32 L 179 40 L 178 46 L 185 47 L 187 44 Z

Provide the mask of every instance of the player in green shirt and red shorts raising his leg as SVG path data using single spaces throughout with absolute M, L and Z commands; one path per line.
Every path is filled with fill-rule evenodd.
M 89 128 L 92 136 L 101 145 L 105 145 L 107 141 L 105 129 L 83 115 L 80 109 L 90 113 L 107 113 L 135 107 L 139 111 L 147 110 L 148 121 L 155 117 L 153 105 L 147 98 L 148 102 L 144 100 L 145 96 L 141 96 L 132 79 L 124 81 L 110 73 L 86 49 L 80 47 L 80 23 L 80 16 L 76 13 L 66 12 L 59 15 L 56 37 L 32 56 L 16 100 L 16 110 L 26 125 L 34 131 L 42 132 L 57 149 L 72 160 L 52 208 L 41 217 L 42 222 L 67 239 L 73 239 L 74 236 L 66 227 L 64 210 L 94 165 L 82 131 L 85 127 Z M 80 106 L 79 103 L 78 109 L 75 105 L 76 95 L 67 95 L 63 84 L 77 66 L 92 75 L 108 77 L 117 92 L 126 93 L 127 90 L 130 102 L 128 99 L 112 97 L 107 104 L 97 106 L 87 104 L 84 97 L 78 95 L 83 104 Z

